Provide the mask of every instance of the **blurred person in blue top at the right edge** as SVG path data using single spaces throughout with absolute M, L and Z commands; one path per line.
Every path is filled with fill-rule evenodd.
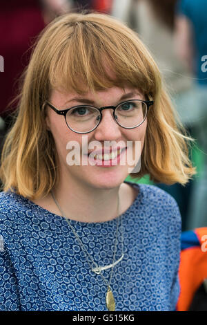
M 177 54 L 195 74 L 189 93 L 194 109 L 189 116 L 193 136 L 204 152 L 203 167 L 195 178 L 188 218 L 188 229 L 207 225 L 207 1 L 181 0 L 175 21 Z M 188 113 L 188 106 L 186 106 Z M 190 113 L 190 112 L 189 112 Z

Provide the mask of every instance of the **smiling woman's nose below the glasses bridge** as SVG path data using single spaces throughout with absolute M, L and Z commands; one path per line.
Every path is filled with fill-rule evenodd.
M 121 127 L 114 119 L 113 110 L 106 109 L 102 111 L 102 119 L 95 129 L 95 139 L 97 141 L 101 140 L 117 140 L 121 137 Z

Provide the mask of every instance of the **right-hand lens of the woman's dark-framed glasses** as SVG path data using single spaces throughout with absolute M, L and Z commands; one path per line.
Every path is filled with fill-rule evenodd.
M 137 127 L 144 122 L 147 105 L 139 100 L 131 100 L 117 106 L 115 116 L 121 127 Z

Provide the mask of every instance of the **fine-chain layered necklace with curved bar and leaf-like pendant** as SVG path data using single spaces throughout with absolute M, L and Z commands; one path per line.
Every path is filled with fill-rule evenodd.
M 70 223 L 70 220 L 68 218 L 66 218 L 65 214 L 63 214 L 63 212 L 61 210 L 61 207 L 59 207 L 59 204 L 57 203 L 55 195 L 53 194 L 52 191 L 51 191 L 51 194 L 52 194 L 52 198 L 55 201 L 55 204 L 57 205 L 57 207 L 59 208 L 59 211 L 61 212 L 61 215 L 63 216 L 64 219 L 66 219 L 68 225 L 70 225 L 70 228 L 71 228 L 73 234 L 75 235 L 77 241 L 79 242 L 79 245 L 81 246 L 81 249 L 86 254 L 86 259 L 88 261 L 88 265 L 92 269 L 92 272 L 95 272 L 97 275 L 101 275 L 103 281 L 105 282 L 105 284 L 106 284 L 106 286 L 108 288 L 107 293 L 106 293 L 106 306 L 107 306 L 108 310 L 115 311 L 115 297 L 112 294 L 112 290 L 110 288 L 110 281 L 112 279 L 112 272 L 113 272 L 114 266 L 117 265 L 117 263 L 119 263 L 119 261 L 121 261 L 121 259 L 123 259 L 123 257 L 124 257 L 124 245 L 123 245 L 124 240 L 123 240 L 122 218 L 121 218 L 121 216 L 119 216 L 119 194 L 118 194 L 118 201 L 117 201 L 118 217 L 117 217 L 117 233 L 116 233 L 116 240 L 115 240 L 115 250 L 114 250 L 114 256 L 113 256 L 113 263 L 108 265 L 108 266 L 98 266 L 97 263 L 94 261 L 94 259 L 92 259 L 92 256 L 90 254 L 88 254 L 86 248 L 84 247 L 83 243 L 81 242 L 81 239 L 79 238 L 79 235 L 77 234 L 77 232 L 75 232 L 75 229 L 72 227 L 72 225 Z M 122 250 L 122 254 L 121 254 L 121 257 L 115 262 L 115 254 L 116 254 L 116 251 L 117 251 L 117 236 L 118 236 L 119 219 L 121 219 L 121 250 Z M 92 266 L 93 267 L 91 267 L 91 263 L 89 262 L 88 257 L 92 261 Z M 106 270 L 108 268 L 112 268 L 111 273 L 110 273 L 110 280 L 109 281 L 105 277 L 103 277 L 103 275 L 101 273 L 102 270 Z

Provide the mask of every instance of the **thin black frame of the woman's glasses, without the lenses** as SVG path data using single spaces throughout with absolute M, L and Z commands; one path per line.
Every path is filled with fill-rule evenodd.
M 48 106 L 50 106 L 51 109 L 53 109 L 53 111 L 55 111 L 55 113 L 57 113 L 59 115 L 63 115 L 65 120 L 66 120 L 66 115 L 67 115 L 68 111 L 70 111 L 71 109 L 76 109 L 76 108 L 79 108 L 79 107 L 91 107 L 92 109 L 97 109 L 101 114 L 101 118 L 99 119 L 99 123 L 96 125 L 96 127 L 94 127 L 92 130 L 90 130 L 88 132 L 78 132 L 78 131 L 75 131 L 75 130 L 71 129 L 71 127 L 68 125 L 67 120 L 66 120 L 66 124 L 67 124 L 68 128 L 71 131 L 73 131 L 75 133 L 85 134 L 85 133 L 90 133 L 90 132 L 94 131 L 99 126 L 99 124 L 101 123 L 101 120 L 102 120 L 102 111 L 103 111 L 103 109 L 112 109 L 113 110 L 113 117 L 114 117 L 115 121 L 117 122 L 117 124 L 119 124 L 119 122 L 116 120 L 116 115 L 115 115 L 115 110 L 117 109 L 117 107 L 122 105 L 122 104 L 126 104 L 128 102 L 135 102 L 135 101 L 144 102 L 144 104 L 146 104 L 146 106 L 147 106 L 147 113 L 148 113 L 148 109 L 150 108 L 150 106 L 152 106 L 154 104 L 153 100 L 126 100 L 125 102 L 119 103 L 117 106 L 103 106 L 103 107 L 98 108 L 98 107 L 91 106 L 91 105 L 76 105 L 76 106 L 70 107 L 70 109 L 62 109 L 61 111 L 59 111 L 59 109 L 57 109 L 55 106 L 53 106 L 48 101 L 46 101 L 44 103 L 44 105 L 47 104 Z M 146 116 L 147 116 L 147 113 L 146 113 Z M 146 120 L 146 117 L 144 118 L 144 120 L 141 123 L 136 125 L 136 127 L 139 127 L 142 123 L 144 123 L 145 120 Z M 122 127 L 121 124 L 119 124 L 119 126 Z M 124 129 L 135 129 L 136 127 L 123 127 L 123 128 Z

